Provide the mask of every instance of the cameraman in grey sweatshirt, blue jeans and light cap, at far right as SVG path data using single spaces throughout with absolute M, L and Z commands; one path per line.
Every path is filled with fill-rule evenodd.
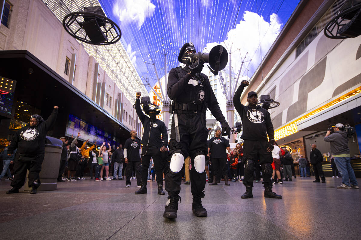
M 334 133 L 327 129 L 325 141 L 330 142 L 331 153 L 334 155 L 336 166 L 342 176 L 342 184 L 338 189 L 358 189 L 355 172 L 351 167 L 350 149 L 348 148 L 347 133 L 342 123 L 332 126 Z M 351 185 L 350 185 L 351 182 Z

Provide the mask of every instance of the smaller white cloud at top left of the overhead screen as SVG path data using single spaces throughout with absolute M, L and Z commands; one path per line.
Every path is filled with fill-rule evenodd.
M 116 0 L 113 14 L 118 17 L 122 25 L 135 22 L 140 29 L 145 18 L 153 15 L 155 8 L 150 0 Z

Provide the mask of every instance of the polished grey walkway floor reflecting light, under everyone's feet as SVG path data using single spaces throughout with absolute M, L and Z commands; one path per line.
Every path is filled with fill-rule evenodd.
M 148 182 L 148 194 L 135 195 L 125 181 L 87 178 L 60 182 L 56 191 L 5 194 L 10 181 L 0 181 L 2 239 L 360 239 L 361 193 L 336 189 L 341 178 L 297 177 L 276 184 L 283 199 L 265 199 L 261 182 L 253 198 L 241 199 L 241 182 L 205 187 L 208 217 L 192 214 L 191 186 L 182 185 L 177 219 L 162 217 L 166 195 Z M 358 179 L 361 182 L 361 179 Z M 183 182 L 182 182 L 183 184 Z

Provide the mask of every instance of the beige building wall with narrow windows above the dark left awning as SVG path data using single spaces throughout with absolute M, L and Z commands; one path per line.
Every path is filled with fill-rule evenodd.
M 90 99 L 95 98 L 93 95 L 96 94 L 94 87 L 96 86 L 97 62 L 86 52 L 83 44 L 80 44 L 64 30 L 62 23 L 41 0 L 12 0 L 10 3 L 13 5 L 13 10 L 10 15 L 9 28 L 4 25 L 0 27 L 0 50 L 29 51 Z M 65 73 L 65 60 L 66 58 L 72 60 L 74 54 L 76 69 L 74 78 L 72 78 L 70 69 L 68 74 Z M 105 104 L 105 101 L 97 104 L 111 115 L 116 116 L 115 103 L 118 94 L 122 92 L 101 67 L 99 67 L 97 82 L 104 83 L 104 96 L 109 94 L 112 97 L 111 103 L 108 99 L 108 104 Z M 121 96 L 126 112 L 128 115 L 131 114 L 133 122 L 129 124 L 129 119 L 127 122 L 122 121 L 119 117 L 118 119 L 128 128 L 133 129 L 135 128 L 134 119 L 138 117 L 129 100 L 123 94 Z

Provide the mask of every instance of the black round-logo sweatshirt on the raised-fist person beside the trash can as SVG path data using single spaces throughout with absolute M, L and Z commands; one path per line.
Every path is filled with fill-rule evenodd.
M 52 114 L 45 122 L 39 123 L 36 127 L 30 127 L 30 125 L 27 124 L 18 130 L 11 140 L 8 153 L 13 153 L 16 148 L 18 149 L 17 151 L 25 157 L 32 157 L 44 153 L 45 136 L 53 127 L 57 114 L 58 109 L 54 108 Z

